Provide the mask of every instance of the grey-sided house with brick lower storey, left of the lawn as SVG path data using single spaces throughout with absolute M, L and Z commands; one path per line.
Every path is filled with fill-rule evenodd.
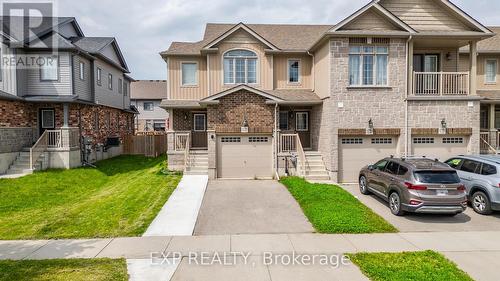
M 115 38 L 86 37 L 72 17 L 0 20 L 0 174 L 120 154 L 137 112 Z

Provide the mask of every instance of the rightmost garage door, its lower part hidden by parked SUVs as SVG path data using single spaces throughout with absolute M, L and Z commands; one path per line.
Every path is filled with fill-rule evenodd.
M 446 161 L 457 155 L 467 154 L 466 136 L 413 136 L 412 154 Z

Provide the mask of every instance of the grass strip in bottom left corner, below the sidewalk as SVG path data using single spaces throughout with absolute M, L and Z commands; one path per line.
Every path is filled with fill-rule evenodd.
M 11 281 L 126 281 L 124 259 L 0 261 L 0 280 Z

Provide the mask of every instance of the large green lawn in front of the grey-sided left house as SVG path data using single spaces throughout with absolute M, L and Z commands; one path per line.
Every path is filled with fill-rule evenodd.
M 164 162 L 119 156 L 0 179 L 0 239 L 139 236 L 181 178 L 162 174 Z

